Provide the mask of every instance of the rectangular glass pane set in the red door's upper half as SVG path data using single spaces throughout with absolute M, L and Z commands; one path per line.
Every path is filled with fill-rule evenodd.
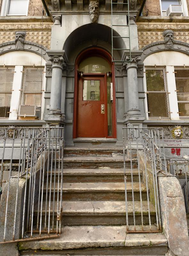
M 83 81 L 83 100 L 100 100 L 100 80 Z

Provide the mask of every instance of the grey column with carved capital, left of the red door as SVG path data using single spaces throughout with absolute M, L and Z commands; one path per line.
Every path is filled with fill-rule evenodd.
M 52 82 L 49 115 L 61 115 L 62 71 L 66 66 L 63 56 L 51 56 Z

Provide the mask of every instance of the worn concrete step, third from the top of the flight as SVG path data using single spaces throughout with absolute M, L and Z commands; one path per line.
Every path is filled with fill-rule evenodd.
M 58 181 L 61 170 L 56 169 L 52 171 L 52 178 L 50 171 L 48 172 L 48 180 Z M 123 182 L 124 181 L 123 168 L 99 168 L 99 169 L 63 169 L 63 182 Z M 126 169 L 127 181 L 131 181 L 131 169 Z M 139 181 L 138 169 L 132 170 L 133 182 Z M 59 176 L 59 177 L 58 177 Z M 142 181 L 142 172 L 140 172 L 140 180 Z

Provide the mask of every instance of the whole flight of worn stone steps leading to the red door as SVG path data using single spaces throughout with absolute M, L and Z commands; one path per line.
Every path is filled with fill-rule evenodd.
M 137 159 L 133 159 L 135 217 L 136 225 L 141 228 L 137 167 Z M 126 159 L 126 168 L 129 181 L 127 196 L 132 200 L 130 159 Z M 142 172 L 140 176 L 142 179 Z M 52 182 L 54 184 L 54 178 Z M 55 200 L 58 192 L 56 182 L 57 174 Z M 141 188 L 144 230 L 148 230 L 147 193 L 143 184 Z M 50 193 L 50 188 L 44 191 L 46 189 Z M 158 231 L 126 234 L 122 149 L 65 148 L 62 199 L 62 235 L 53 239 L 20 242 L 21 255 L 155 256 L 165 255 L 168 251 L 167 239 Z M 152 231 L 156 231 L 155 208 L 152 204 L 150 209 Z M 45 211 L 45 202 L 42 211 Z M 128 201 L 128 211 L 130 228 L 134 230 L 132 201 Z M 34 215 L 37 215 L 37 208 L 34 209 Z

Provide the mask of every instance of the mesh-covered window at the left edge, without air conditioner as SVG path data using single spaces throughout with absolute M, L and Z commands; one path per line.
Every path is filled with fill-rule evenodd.
M 0 119 L 9 117 L 14 67 L 0 67 Z

